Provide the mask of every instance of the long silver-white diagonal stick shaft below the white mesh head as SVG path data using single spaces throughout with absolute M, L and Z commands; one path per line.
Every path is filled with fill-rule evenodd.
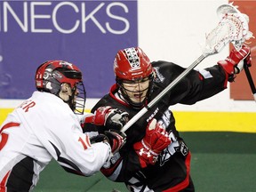
M 142 108 L 139 113 L 137 113 L 135 116 L 132 117 L 132 119 L 130 119 L 130 121 L 124 125 L 123 129 L 121 130 L 121 132 L 125 132 L 126 130 L 128 130 L 132 124 L 134 124 L 135 122 L 137 122 L 141 116 L 143 116 L 145 113 L 147 113 L 149 108 L 152 108 L 159 100 L 161 100 L 164 95 L 169 92 L 176 84 L 178 84 L 180 82 L 180 80 L 184 77 L 187 76 L 188 73 L 193 69 L 196 68 L 196 66 L 202 62 L 202 60 L 204 60 L 208 55 L 206 54 L 202 54 L 197 60 L 195 60 L 188 68 L 186 68 L 186 70 L 184 70 L 180 76 L 178 76 L 177 78 L 175 78 L 171 84 L 169 84 L 167 87 L 164 88 L 164 90 L 162 92 L 160 92 L 156 98 L 154 100 L 151 100 L 148 103 L 148 106 Z

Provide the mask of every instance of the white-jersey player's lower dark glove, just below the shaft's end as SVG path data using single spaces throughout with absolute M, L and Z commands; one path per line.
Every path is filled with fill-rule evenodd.
M 106 131 L 104 135 L 111 147 L 112 154 L 116 154 L 125 144 L 126 135 L 123 132 Z

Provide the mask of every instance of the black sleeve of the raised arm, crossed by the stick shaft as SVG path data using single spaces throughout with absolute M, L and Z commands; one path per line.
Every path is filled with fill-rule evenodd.
M 154 64 L 156 70 L 156 87 L 157 94 L 164 90 L 166 86 L 172 83 L 186 69 L 165 61 L 157 61 Z M 187 76 L 184 76 L 176 84 L 165 98 L 169 98 L 169 105 L 177 103 L 192 105 L 199 100 L 204 100 L 223 91 L 226 86 L 227 78 L 225 72 L 218 65 L 211 68 L 204 68 L 197 71 L 192 69 Z M 162 82 L 161 82 L 162 76 Z

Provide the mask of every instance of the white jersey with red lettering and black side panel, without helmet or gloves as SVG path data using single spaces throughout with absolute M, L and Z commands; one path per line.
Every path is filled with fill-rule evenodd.
M 111 154 L 108 143 L 91 144 L 68 104 L 48 92 L 34 92 L 7 116 L 0 139 L 1 192 L 32 190 L 52 157 L 66 171 L 90 176 Z

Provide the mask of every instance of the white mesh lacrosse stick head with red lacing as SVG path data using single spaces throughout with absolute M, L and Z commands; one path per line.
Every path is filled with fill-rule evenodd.
M 220 22 L 206 36 L 204 55 L 220 52 L 226 44 L 232 43 L 240 50 L 244 42 L 252 37 L 249 31 L 249 17 L 239 12 L 233 4 L 222 4 L 217 9 Z

